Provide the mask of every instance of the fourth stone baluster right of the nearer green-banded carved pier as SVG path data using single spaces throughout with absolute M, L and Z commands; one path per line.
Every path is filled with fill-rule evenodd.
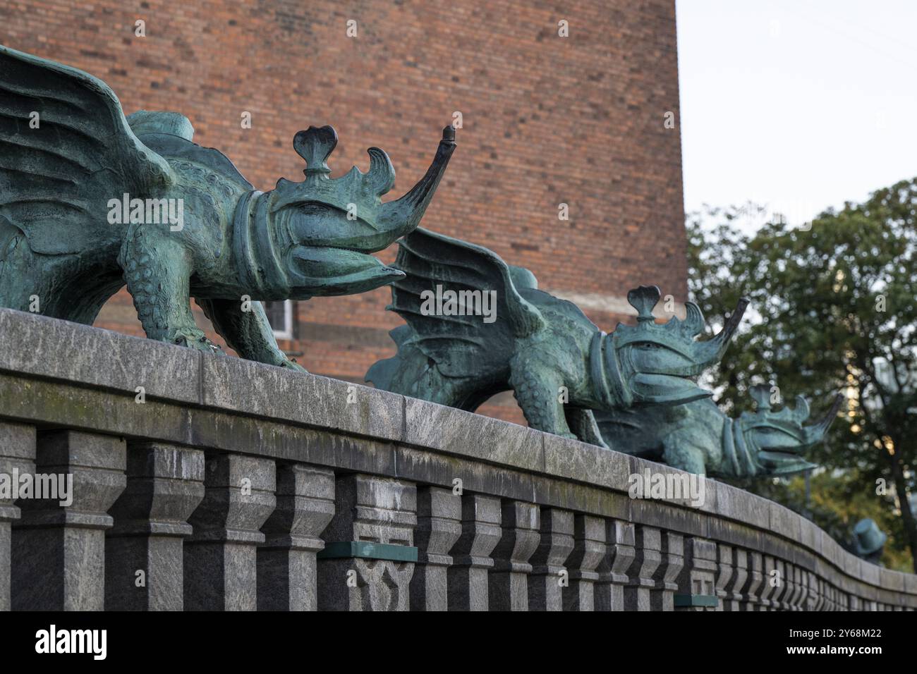
M 563 611 L 564 567 L 573 551 L 573 514 L 559 508 L 541 509 L 541 532 L 528 577 L 529 611 Z

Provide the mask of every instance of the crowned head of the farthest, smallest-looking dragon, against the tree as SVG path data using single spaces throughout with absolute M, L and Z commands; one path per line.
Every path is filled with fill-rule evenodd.
M 735 443 L 737 448 L 752 462 L 758 475 L 787 475 L 814 468 L 814 464 L 802 459 L 802 454 L 822 441 L 825 431 L 832 424 L 840 410 L 844 396 L 838 393 L 834 404 L 823 419 L 812 425 L 803 425 L 809 418 L 809 403 L 801 395 L 796 397 L 796 406 L 784 406 L 779 411 L 771 409 L 770 387 L 751 387 L 756 403 L 755 412 L 744 412 L 735 420 Z

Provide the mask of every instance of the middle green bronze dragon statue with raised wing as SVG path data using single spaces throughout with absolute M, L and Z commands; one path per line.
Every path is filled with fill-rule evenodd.
M 656 286 L 627 295 L 637 325 L 602 332 L 580 309 L 537 289 L 531 271 L 489 249 L 418 228 L 399 242 L 392 305 L 407 322 L 390 333 L 391 359 L 366 374 L 377 388 L 474 411 L 513 390 L 529 425 L 606 447 L 592 410 L 678 405 L 711 395 L 693 377 L 719 360 L 746 308 L 742 300 L 718 335 L 696 304 L 684 320 L 657 324 Z M 447 301 L 433 303 L 431 293 Z M 492 293 L 496 315 L 475 315 Z M 480 307 L 479 307 L 480 308 Z

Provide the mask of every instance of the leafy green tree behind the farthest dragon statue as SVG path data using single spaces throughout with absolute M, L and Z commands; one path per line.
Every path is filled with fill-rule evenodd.
M 760 212 L 752 204 L 713 209 L 688 223 L 689 288 L 704 314 L 723 320 L 723 307 L 751 301 L 712 375 L 719 402 L 731 414 L 751 409 L 748 387 L 770 382 L 781 399 L 804 393 L 816 417 L 844 392 L 841 418 L 811 460 L 844 476 L 840 498 L 878 501 L 879 524 L 910 548 L 917 571 L 917 179 L 805 227 L 780 217 L 752 235 L 736 227 L 739 215 Z

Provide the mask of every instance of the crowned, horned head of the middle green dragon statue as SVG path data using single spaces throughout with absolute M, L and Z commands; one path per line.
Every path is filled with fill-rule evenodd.
M 672 318 L 657 324 L 653 307 L 661 293 L 655 285 L 642 285 L 627 293 L 636 309 L 637 325 L 619 324 L 603 342 L 603 372 L 593 366 L 593 378 L 603 390 L 600 397 L 607 407 L 629 407 L 632 403 L 682 404 L 712 395 L 694 381 L 701 372 L 719 360 L 729 345 L 748 301 L 742 299 L 712 339 L 697 341 L 704 328 L 700 307 L 685 303 L 684 320 Z M 597 340 L 593 338 L 592 362 Z

